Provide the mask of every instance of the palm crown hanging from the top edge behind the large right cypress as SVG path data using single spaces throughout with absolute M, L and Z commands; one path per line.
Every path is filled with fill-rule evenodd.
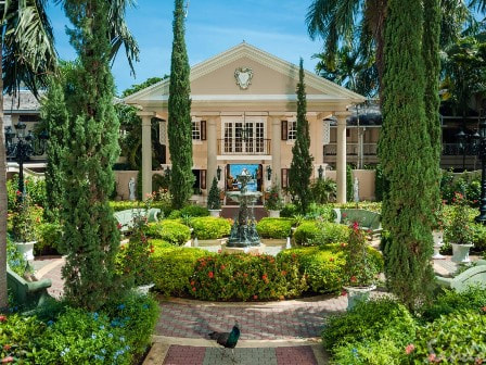
M 311 39 L 324 40 L 324 62 L 335 68 L 341 45 L 358 39 L 357 49 L 363 60 L 375 53 L 379 85 L 384 71 L 384 25 L 388 0 L 314 0 L 308 8 L 306 23 Z M 469 8 L 462 0 L 442 0 L 442 45 L 459 36 L 464 22 L 474 23 Z M 470 0 L 470 7 L 486 10 L 486 0 Z M 381 89 L 381 87 L 380 87 Z

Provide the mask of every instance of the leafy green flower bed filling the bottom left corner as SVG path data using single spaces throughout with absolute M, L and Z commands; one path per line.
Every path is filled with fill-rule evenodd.
M 132 364 L 150 344 L 158 304 L 128 294 L 97 313 L 62 306 L 50 315 L 0 316 L 1 363 Z

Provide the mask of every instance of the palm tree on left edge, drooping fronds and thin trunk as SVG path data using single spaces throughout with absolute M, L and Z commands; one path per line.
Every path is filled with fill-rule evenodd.
M 34 95 L 54 70 L 56 54 L 46 0 L 7 0 L 2 5 L 0 52 L 0 307 L 7 307 L 7 181 L 3 142 L 3 89 L 15 92 L 22 84 Z

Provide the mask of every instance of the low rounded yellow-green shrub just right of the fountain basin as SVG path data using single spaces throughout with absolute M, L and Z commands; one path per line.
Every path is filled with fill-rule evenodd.
M 346 242 L 348 237 L 349 228 L 347 226 L 318 221 L 304 222 L 294 232 L 295 242 L 300 246 Z

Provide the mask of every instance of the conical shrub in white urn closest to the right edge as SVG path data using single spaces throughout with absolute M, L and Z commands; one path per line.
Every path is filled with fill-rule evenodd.
M 468 203 L 464 196 L 455 192 L 452 198 L 452 211 L 450 222 L 446 227 L 447 242 L 452 246 L 452 259 L 455 263 L 469 263 L 469 250 L 473 247 L 473 230 L 469 219 Z

